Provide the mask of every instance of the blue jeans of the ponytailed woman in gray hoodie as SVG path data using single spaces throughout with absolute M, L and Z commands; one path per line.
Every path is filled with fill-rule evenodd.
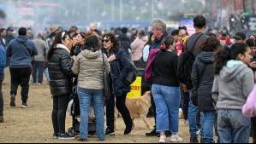
M 220 143 L 248 143 L 251 119 L 242 116 L 241 110 L 219 109 L 217 133 Z

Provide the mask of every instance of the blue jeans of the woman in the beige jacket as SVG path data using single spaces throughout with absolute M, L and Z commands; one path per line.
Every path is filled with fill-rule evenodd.
M 104 97 L 103 90 L 77 88 L 80 101 L 80 139 L 88 138 L 88 118 L 91 101 L 96 116 L 98 140 L 104 140 Z

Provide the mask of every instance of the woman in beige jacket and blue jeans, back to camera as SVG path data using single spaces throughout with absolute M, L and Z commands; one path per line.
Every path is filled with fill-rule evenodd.
M 104 56 L 104 57 L 103 57 Z M 104 61 L 103 61 L 104 60 Z M 91 101 L 96 115 L 96 132 L 104 141 L 103 68 L 110 72 L 107 56 L 102 54 L 96 36 L 86 38 L 84 49 L 74 61 L 72 71 L 78 75 L 77 93 L 80 101 L 80 141 L 88 138 L 88 116 Z

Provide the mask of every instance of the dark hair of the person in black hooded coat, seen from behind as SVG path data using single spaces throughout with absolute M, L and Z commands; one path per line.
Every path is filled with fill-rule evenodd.
M 203 43 L 199 44 L 200 51 L 212 52 L 217 50 L 221 46 L 217 37 L 207 37 Z

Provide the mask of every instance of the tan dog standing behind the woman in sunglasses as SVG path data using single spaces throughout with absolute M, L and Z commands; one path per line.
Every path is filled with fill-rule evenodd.
M 152 129 L 150 126 L 146 115 L 148 113 L 148 109 L 151 107 L 151 92 L 146 91 L 146 93 L 140 98 L 137 99 L 126 99 L 126 106 L 130 112 L 131 118 L 134 121 L 135 118 L 142 118 L 146 127 L 148 129 Z M 115 108 L 115 129 L 116 129 L 116 118 L 118 116 L 118 111 Z

